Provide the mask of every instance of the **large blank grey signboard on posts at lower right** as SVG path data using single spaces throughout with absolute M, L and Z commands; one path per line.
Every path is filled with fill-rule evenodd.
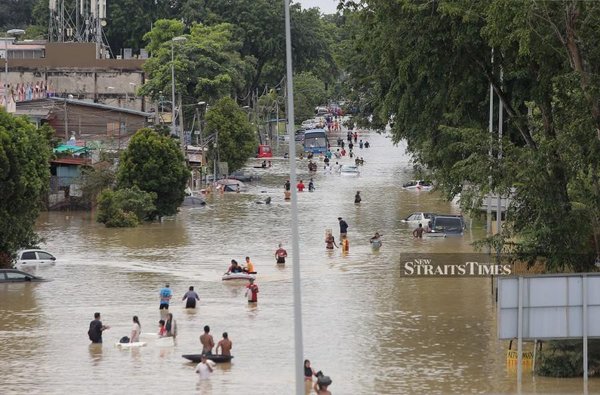
M 587 278 L 584 293 L 583 279 Z M 518 335 L 519 282 L 498 278 L 498 337 Z M 584 304 L 587 336 L 600 337 L 600 275 L 540 275 L 523 277 L 523 340 L 581 339 Z

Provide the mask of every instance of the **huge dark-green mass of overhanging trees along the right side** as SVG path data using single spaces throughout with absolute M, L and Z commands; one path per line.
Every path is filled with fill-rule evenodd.
M 487 241 L 551 271 L 589 270 L 600 253 L 598 15 L 596 2 L 510 0 L 364 0 L 347 12 L 344 65 L 371 126 L 393 120 L 394 140 L 465 209 L 512 192 L 508 225 Z M 496 132 L 488 156 L 490 84 L 505 107 L 501 160 Z

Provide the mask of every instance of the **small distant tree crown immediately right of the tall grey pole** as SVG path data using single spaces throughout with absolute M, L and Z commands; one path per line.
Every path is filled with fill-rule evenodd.
M 294 76 L 294 111 L 297 122 L 313 118 L 315 107 L 327 103 L 325 84 L 310 72 Z

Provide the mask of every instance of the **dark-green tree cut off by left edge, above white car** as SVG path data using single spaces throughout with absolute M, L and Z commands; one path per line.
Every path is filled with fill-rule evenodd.
M 40 240 L 34 225 L 50 184 L 50 134 L 0 109 L 0 266 Z

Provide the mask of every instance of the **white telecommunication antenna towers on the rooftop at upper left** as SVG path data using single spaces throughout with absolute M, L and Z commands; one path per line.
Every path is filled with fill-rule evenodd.
M 96 43 L 98 59 L 110 57 L 103 28 L 107 0 L 48 0 L 48 41 Z

